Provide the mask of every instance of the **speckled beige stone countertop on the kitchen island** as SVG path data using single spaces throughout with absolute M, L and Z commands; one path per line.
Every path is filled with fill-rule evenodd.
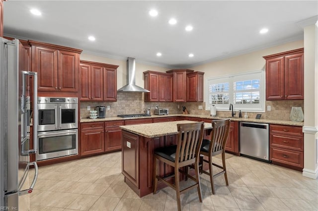
M 192 123 L 195 121 L 181 120 L 171 122 L 134 124 L 120 126 L 122 130 L 141 135 L 147 138 L 156 138 L 161 136 L 177 134 L 177 124 Z M 204 129 L 212 129 L 212 124 L 204 122 Z

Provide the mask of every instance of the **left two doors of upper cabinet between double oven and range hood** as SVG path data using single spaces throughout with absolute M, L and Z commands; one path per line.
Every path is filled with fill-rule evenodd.
M 80 62 L 80 101 L 103 101 L 103 67 Z

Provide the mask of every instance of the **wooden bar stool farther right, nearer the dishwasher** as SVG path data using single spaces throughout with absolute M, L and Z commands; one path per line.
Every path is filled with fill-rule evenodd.
M 200 168 L 200 172 L 205 173 L 210 176 L 212 193 L 215 194 L 214 189 L 214 181 L 213 179 L 224 174 L 225 182 L 229 185 L 228 175 L 225 165 L 225 145 L 228 140 L 229 132 L 230 132 L 230 119 L 222 119 L 222 120 L 213 120 L 212 121 L 212 136 L 211 141 L 207 139 L 203 139 L 202 146 L 200 150 L 200 155 L 204 155 L 208 157 L 208 160 L 203 159 L 203 162 L 209 163 L 209 172 Z M 216 155 L 222 154 L 222 166 L 212 162 L 212 157 Z M 203 165 L 203 163 L 202 163 Z M 221 168 L 222 171 L 213 174 L 212 165 Z

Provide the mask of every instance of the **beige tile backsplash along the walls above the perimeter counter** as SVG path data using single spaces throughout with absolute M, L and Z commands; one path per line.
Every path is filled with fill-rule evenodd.
M 187 110 L 191 114 L 210 115 L 209 110 L 205 110 L 205 102 L 199 103 L 172 103 L 172 102 L 144 102 L 144 93 L 135 92 L 118 92 L 117 102 L 80 102 L 80 117 L 87 118 L 89 111 L 87 106 L 91 109 L 95 109 L 96 106 L 110 106 L 109 110 L 106 110 L 106 117 L 114 117 L 118 114 L 133 114 L 133 113 L 144 113 L 145 108 L 150 106 L 150 113 L 155 114 L 155 107 L 169 108 L 170 114 L 181 114 L 182 106 L 186 106 Z M 179 106 L 179 108 L 178 108 Z M 202 106 L 202 109 L 198 107 Z M 235 105 L 234 105 L 235 106 Z M 279 120 L 290 120 L 289 115 L 292 106 L 302 107 L 304 111 L 304 100 L 277 100 L 277 101 L 266 101 L 265 108 L 271 106 L 270 111 L 261 113 L 264 119 L 279 119 Z M 234 108 L 235 109 L 235 108 Z M 305 112 L 305 111 L 304 111 Z M 257 112 L 247 112 L 248 118 L 255 118 Z M 218 116 L 231 116 L 231 111 L 218 111 Z M 244 115 L 244 111 L 242 111 Z M 236 116 L 239 116 L 237 112 Z

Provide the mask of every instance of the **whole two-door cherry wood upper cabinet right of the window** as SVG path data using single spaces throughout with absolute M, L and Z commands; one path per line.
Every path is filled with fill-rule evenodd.
M 304 49 L 263 56 L 266 100 L 304 99 Z

